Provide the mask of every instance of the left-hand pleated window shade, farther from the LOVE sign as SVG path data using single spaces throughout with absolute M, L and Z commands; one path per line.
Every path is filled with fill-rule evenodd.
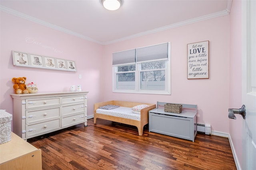
M 135 63 L 135 49 L 112 53 L 112 65 Z

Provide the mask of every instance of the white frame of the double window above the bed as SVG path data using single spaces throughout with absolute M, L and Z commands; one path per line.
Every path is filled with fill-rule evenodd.
M 159 70 L 165 70 L 165 89 L 164 90 L 154 90 L 154 89 L 141 89 L 140 84 L 140 72 L 143 71 L 150 71 L 150 70 L 141 70 L 141 63 L 150 62 L 150 61 L 143 61 L 143 62 L 135 62 L 136 70 L 135 70 L 135 89 L 118 89 L 117 87 L 117 74 L 118 66 L 126 66 L 134 63 L 125 63 L 125 64 L 116 64 L 112 65 L 112 92 L 115 93 L 135 93 L 135 94 L 164 94 L 170 95 L 171 94 L 171 62 L 170 62 L 170 42 L 168 43 L 168 52 L 167 52 L 167 59 L 165 60 L 166 67 L 160 68 Z M 162 43 L 163 44 L 163 43 Z M 150 46 L 148 46 L 150 47 Z M 160 61 L 163 59 L 158 60 L 151 60 L 151 61 Z M 131 72 L 131 71 L 128 71 Z M 134 72 L 134 71 L 132 71 Z M 123 72 L 122 72 L 123 73 Z

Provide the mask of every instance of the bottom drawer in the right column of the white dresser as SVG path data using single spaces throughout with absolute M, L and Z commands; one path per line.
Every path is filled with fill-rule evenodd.
M 80 113 L 78 115 L 71 115 L 67 117 L 62 117 L 61 125 L 62 127 L 68 127 L 72 125 L 77 125 L 78 123 L 83 123 L 86 120 L 85 113 Z

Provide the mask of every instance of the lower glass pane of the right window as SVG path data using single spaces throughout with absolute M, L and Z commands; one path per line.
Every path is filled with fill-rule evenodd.
M 165 70 L 140 72 L 140 89 L 165 90 Z

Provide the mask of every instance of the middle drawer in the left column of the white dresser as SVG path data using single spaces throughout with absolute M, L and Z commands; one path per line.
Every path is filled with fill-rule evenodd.
M 60 106 L 26 111 L 26 124 L 60 117 Z

